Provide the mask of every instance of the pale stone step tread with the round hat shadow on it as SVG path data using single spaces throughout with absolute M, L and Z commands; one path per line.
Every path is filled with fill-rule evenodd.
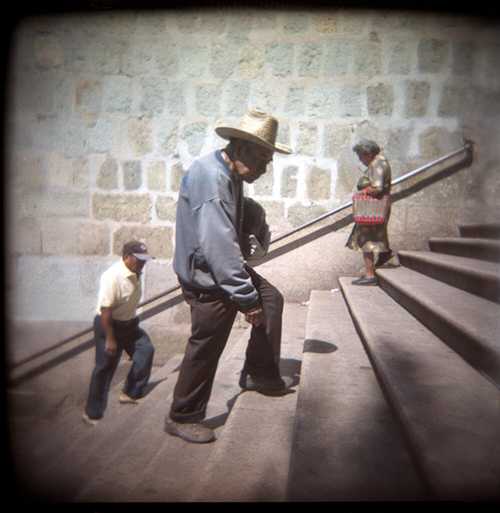
M 425 499 L 341 292 L 308 313 L 287 500 Z

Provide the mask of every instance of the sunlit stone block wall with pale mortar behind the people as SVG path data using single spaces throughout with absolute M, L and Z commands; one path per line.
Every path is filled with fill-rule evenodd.
M 247 186 L 274 235 L 350 200 L 363 170 L 351 148 L 364 136 L 384 148 L 394 177 L 461 147 L 463 137 L 476 143 L 471 168 L 394 205 L 395 249 L 421 248 L 456 222 L 496 215 L 494 21 L 274 7 L 109 9 L 18 25 L 6 96 L 11 319 L 90 320 L 99 274 L 133 237 L 156 256 L 145 297 L 174 285 L 181 177 L 223 147 L 214 128 L 237 125 L 250 108 L 275 114 L 278 141 L 295 150 L 275 154 Z M 357 274 L 361 258 L 344 248 L 348 233 L 299 246 L 263 273 L 287 299 L 308 299 L 311 288 Z

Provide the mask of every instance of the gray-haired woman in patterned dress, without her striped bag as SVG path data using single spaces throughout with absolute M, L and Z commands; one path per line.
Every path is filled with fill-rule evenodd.
M 368 140 L 359 141 L 352 150 L 359 160 L 367 166 L 366 171 L 357 182 L 357 190 L 365 190 L 370 196 L 383 196 L 391 191 L 391 166 L 386 157 L 381 155 L 379 146 Z M 387 236 L 390 205 L 387 219 L 379 225 L 355 225 L 346 246 L 363 252 L 366 274 L 352 283 L 354 285 L 375 285 L 375 267 L 384 265 L 392 258 Z M 378 253 L 374 264 L 374 253 Z

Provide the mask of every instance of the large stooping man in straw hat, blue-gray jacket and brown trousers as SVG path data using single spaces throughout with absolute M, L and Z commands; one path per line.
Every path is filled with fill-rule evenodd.
M 182 180 L 173 267 L 191 307 L 192 334 L 165 431 L 189 442 L 215 440 L 200 421 L 238 310 L 252 324 L 239 385 L 272 395 L 289 391 L 279 374 L 283 296 L 245 265 L 241 249 L 243 182 L 263 175 L 275 151 L 292 153 L 276 143 L 277 128 L 273 116 L 257 110 L 238 128 L 216 128 L 229 144 L 194 162 Z

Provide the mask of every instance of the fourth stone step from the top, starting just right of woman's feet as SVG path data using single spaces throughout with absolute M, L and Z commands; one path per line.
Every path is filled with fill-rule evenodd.
M 500 385 L 500 305 L 406 267 L 378 269 L 378 284 L 437 337 Z

